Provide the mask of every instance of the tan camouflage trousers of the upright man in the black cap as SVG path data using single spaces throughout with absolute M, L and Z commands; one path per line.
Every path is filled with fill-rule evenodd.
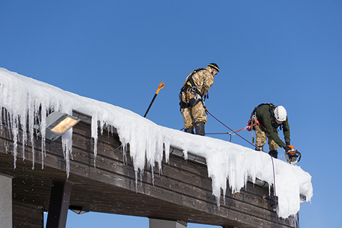
M 200 101 L 194 107 L 182 108 L 182 115 L 185 128 L 195 128 L 195 123 L 198 122 L 207 123 L 207 115 L 205 115 L 203 103 Z

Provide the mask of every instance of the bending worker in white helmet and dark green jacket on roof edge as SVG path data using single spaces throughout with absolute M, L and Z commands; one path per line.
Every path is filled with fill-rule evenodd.
M 251 115 L 252 123 L 258 123 L 253 128 L 255 130 L 255 150 L 264 150 L 266 138 L 269 140 L 269 155 L 278 157 L 278 147 L 283 147 L 286 153 L 293 152 L 294 149 L 290 145 L 290 126 L 287 118 L 286 109 L 283 106 L 275 106 L 273 104 L 262 103 L 254 108 Z M 283 142 L 278 135 L 277 128 L 283 128 Z

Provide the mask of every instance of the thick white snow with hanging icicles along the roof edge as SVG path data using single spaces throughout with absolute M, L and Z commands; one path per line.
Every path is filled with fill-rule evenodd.
M 31 140 L 33 144 L 33 125 L 37 122 L 42 130 L 44 150 L 46 115 L 51 110 L 70 115 L 73 110 L 78 110 L 92 116 L 91 134 L 95 145 L 99 128 L 102 132 L 103 126 L 110 125 L 118 130 L 123 146 L 127 148 L 127 145 L 130 145 L 130 155 L 136 175 L 142 173 L 146 160 L 152 169 L 156 163 L 161 169 L 163 151 L 165 150 L 165 158 L 168 160 L 170 145 L 172 145 L 183 150 L 185 158 L 188 151 L 206 158 L 208 174 L 212 178 L 212 194 L 217 197 L 217 204 L 219 204 L 221 190 L 224 193 L 227 190 L 227 179 L 229 189 L 232 192 L 239 192 L 246 185 L 248 177 L 253 182 L 257 178 L 263 180 L 269 186 L 274 185 L 275 177 L 279 217 L 287 218 L 299 211 L 300 195 L 306 196 L 306 201 L 310 201 L 313 195 L 311 175 L 301 170 L 299 166 L 274 159 L 273 170 L 272 159 L 264 152 L 257 152 L 224 140 L 165 128 L 130 110 L 84 98 L 4 68 L 0 68 L 0 107 L 2 113 L 5 113 L 4 108 L 7 110 L 6 116 L 3 114 L 5 123 L 1 122 L 0 125 L 1 129 L 5 125 L 13 134 L 15 160 L 18 142 L 27 145 L 28 140 Z M 26 125 L 28 125 L 28 135 Z M 19 135 L 19 128 L 24 130 L 22 135 Z M 62 136 L 67 172 L 69 172 L 69 157 L 72 157 L 71 136 L 72 129 Z M 95 155 L 96 152 L 95 146 Z M 43 156 L 44 151 L 42 161 Z

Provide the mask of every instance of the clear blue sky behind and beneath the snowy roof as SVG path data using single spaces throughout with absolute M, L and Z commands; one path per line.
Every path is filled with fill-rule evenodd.
M 209 111 L 237 130 L 259 103 L 284 105 L 298 165 L 314 185 L 300 226 L 340 225 L 342 1 L 2 0 L 0 28 L 0 67 L 78 95 L 144 115 L 163 81 L 147 118 L 174 129 L 183 127 L 185 77 L 217 63 Z M 227 131 L 208 117 L 207 133 Z M 120 222 L 148 227 L 145 218 L 97 213 L 70 214 L 67 227 Z

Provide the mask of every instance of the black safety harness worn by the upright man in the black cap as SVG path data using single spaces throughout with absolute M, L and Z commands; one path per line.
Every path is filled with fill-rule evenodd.
M 185 82 L 184 86 L 180 89 L 180 109 L 182 108 L 190 108 L 197 105 L 197 103 L 203 102 L 202 100 L 202 93 L 196 88 L 194 80 L 192 76 L 199 71 L 208 71 L 206 68 L 198 68 L 195 71 L 192 71 L 189 77 L 187 77 L 187 81 Z M 185 100 L 182 99 L 182 93 L 185 93 Z M 194 98 L 190 98 L 190 94 L 194 95 Z M 198 98 L 198 96 L 200 98 Z

